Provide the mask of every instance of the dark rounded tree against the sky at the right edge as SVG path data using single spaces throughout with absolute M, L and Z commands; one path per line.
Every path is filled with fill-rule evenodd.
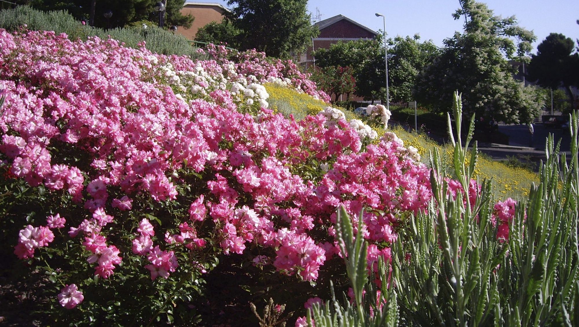
M 529 79 L 551 90 L 565 87 L 573 108 L 574 96 L 571 86 L 577 84 L 578 54 L 573 53 L 575 42 L 563 34 L 551 33 L 537 46 L 529 65 Z

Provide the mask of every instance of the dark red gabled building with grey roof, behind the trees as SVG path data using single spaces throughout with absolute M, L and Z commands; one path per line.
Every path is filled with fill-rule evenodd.
M 298 63 L 307 68 L 314 63 L 312 51 L 320 48 L 329 49 L 329 46 L 342 42 L 356 41 L 359 39 L 373 39 L 378 32 L 372 31 L 368 27 L 339 14 L 338 16 L 320 20 L 314 24 L 320 30 L 317 38 L 313 38 L 312 46 L 307 48 L 307 52 L 301 54 Z

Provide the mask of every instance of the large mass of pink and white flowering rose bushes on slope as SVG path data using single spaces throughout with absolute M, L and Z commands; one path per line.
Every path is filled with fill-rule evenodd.
M 57 319 L 190 319 L 228 256 L 313 283 L 340 254 L 338 205 L 368 208 L 374 258 L 430 200 L 428 168 L 394 134 L 370 144 L 340 115 L 267 109 L 264 82 L 326 97 L 291 63 L 218 47 L 195 63 L 53 32 L 0 31 L 0 49 L 2 185 L 20 194 L 2 198 L 2 229 L 69 285 L 58 301 L 45 289 Z

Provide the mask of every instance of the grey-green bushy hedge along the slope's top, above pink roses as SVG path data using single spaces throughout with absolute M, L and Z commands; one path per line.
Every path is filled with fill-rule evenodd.
M 138 47 L 139 42 L 145 41 L 146 48 L 160 54 L 187 55 L 199 58 L 196 48 L 192 47 L 187 39 L 181 35 L 162 30 L 155 25 L 142 28 L 142 26 L 130 28 L 114 28 L 102 30 L 82 25 L 63 10 L 57 12 L 41 12 L 30 7 L 19 6 L 15 9 L 0 11 L 0 28 L 14 31 L 24 24 L 28 30 L 54 31 L 56 34 L 66 33 L 69 39 L 86 40 L 89 36 L 98 36 L 101 39 L 111 38 L 124 42 L 128 47 Z

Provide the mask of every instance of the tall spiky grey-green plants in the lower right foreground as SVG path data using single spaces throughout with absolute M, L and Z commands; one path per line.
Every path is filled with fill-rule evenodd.
M 452 136 L 449 115 L 454 147 L 450 169 L 468 189 L 477 163 L 476 142 L 467 158 L 474 117 L 463 143 L 459 94 L 453 111 L 459 136 L 456 140 Z M 453 198 L 435 150 L 434 200 L 426 212 L 408 222 L 406 239 L 394 245 L 390 278 L 388 263 L 379 263 L 381 292 L 368 278 L 367 244 L 361 236 L 353 236 L 350 219 L 340 210 L 336 232 L 347 253 L 355 303 L 340 304 L 332 293 L 332 301 L 314 304 L 307 312 L 308 324 L 312 325 L 311 318 L 317 327 L 578 326 L 577 113 L 571 121 L 570 163 L 558 155 L 559 146 L 549 137 L 540 182 L 533 183 L 528 200 L 516 206 L 507 240 L 497 237 L 490 182 L 480 184 L 475 201 L 460 192 Z M 385 304 L 380 308 L 376 303 Z

